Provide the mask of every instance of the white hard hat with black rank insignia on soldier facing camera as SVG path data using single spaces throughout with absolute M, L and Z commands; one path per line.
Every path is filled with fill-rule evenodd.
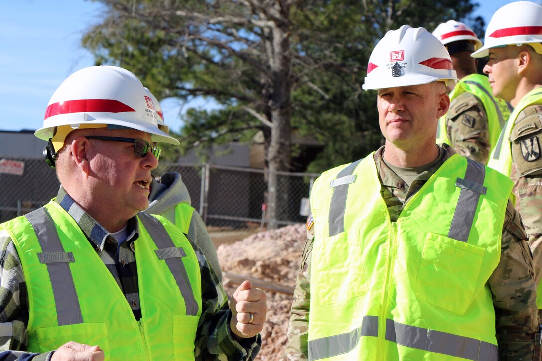
M 403 25 L 390 30 L 376 44 L 367 66 L 363 89 L 427 84 L 436 80 L 457 81 L 450 54 L 424 28 Z

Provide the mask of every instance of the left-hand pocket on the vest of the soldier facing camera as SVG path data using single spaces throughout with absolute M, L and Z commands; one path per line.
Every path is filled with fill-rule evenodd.
M 318 246 L 317 283 L 320 305 L 345 301 L 367 293 L 359 234 L 341 232 L 326 237 Z M 313 250 L 314 253 L 314 250 Z

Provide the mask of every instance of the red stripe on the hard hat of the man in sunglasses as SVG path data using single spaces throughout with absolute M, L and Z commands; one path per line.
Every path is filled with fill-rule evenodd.
M 135 112 L 135 109 L 115 99 L 78 99 L 53 103 L 45 111 L 45 119 L 58 114 L 80 112 Z

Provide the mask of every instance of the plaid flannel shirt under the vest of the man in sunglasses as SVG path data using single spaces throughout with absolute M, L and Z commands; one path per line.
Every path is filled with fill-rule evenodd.
M 137 264 L 134 242 L 139 237 L 135 217 L 128 220 L 128 237 L 120 244 L 89 216 L 61 187 L 55 198 L 85 233 L 132 308 L 141 318 Z M 253 360 L 260 350 L 261 338 L 234 340 L 230 330 L 231 311 L 222 284 L 209 267 L 201 250 L 190 241 L 199 260 L 202 281 L 202 314 L 196 332 L 196 360 Z M 0 227 L 0 360 L 49 360 L 51 352 L 27 352 L 29 295 L 21 260 L 9 233 Z M 90 270 L 89 270 L 90 272 Z M 84 340 L 77 340 L 83 342 Z

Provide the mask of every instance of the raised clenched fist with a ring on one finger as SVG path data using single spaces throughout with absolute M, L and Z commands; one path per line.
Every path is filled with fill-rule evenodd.
M 262 330 L 266 320 L 266 294 L 252 288 L 249 281 L 243 281 L 231 296 L 230 310 L 231 332 L 241 338 L 253 337 Z M 253 314 L 253 319 L 249 323 L 250 314 Z

